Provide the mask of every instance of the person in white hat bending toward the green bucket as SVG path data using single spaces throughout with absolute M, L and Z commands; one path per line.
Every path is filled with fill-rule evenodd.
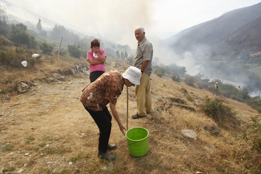
M 107 152 L 107 149 L 116 148 L 116 145 L 109 144 L 112 117 L 106 105 L 110 103 L 112 115 L 125 135 L 126 128 L 121 123 L 116 110 L 117 98 L 121 95 L 124 85 L 127 87 L 139 85 L 140 77 L 141 72 L 136 67 L 129 67 L 123 74 L 119 70 L 109 70 L 82 89 L 81 103 L 100 131 L 98 157 L 106 160 L 115 159 Z

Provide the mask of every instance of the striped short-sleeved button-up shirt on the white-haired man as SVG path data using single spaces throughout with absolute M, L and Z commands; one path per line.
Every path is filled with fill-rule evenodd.
M 144 73 L 147 74 L 147 76 L 150 76 L 152 72 L 152 64 L 151 64 L 152 56 L 153 56 L 152 44 L 147 40 L 146 37 L 144 37 L 142 41 L 138 42 L 138 46 L 132 64 L 134 67 L 140 69 L 143 61 L 149 61 L 149 64 L 144 70 Z

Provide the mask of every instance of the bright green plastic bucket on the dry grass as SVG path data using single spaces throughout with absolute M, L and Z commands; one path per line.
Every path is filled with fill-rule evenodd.
M 131 128 L 126 132 L 129 153 L 134 157 L 142 157 L 149 151 L 149 131 L 145 128 Z

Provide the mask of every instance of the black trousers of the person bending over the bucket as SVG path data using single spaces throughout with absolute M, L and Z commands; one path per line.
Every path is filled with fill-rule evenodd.
M 111 134 L 111 114 L 108 108 L 105 106 L 102 111 L 91 111 L 86 107 L 85 109 L 90 113 L 100 130 L 98 147 L 99 151 L 102 153 L 107 152 L 107 147 Z

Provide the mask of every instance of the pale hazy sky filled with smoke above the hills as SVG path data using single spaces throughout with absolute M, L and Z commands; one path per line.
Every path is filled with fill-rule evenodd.
M 62 24 L 66 20 L 81 30 L 80 32 L 99 33 L 107 39 L 123 45 L 128 44 L 132 48 L 137 46 L 134 37 L 134 28 L 137 26 L 145 28 L 147 38 L 154 35 L 161 38 L 165 37 L 162 32 L 181 31 L 233 9 L 260 2 L 260 0 L 7 1 Z

